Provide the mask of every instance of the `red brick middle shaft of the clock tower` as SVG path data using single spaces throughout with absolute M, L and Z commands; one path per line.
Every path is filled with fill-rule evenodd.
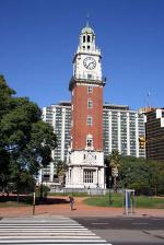
M 93 102 L 92 108 L 87 108 L 89 98 Z M 103 86 L 93 85 L 93 92 L 87 93 L 87 85 L 75 85 L 71 103 L 73 105 L 72 149 L 84 149 L 86 136 L 92 135 L 94 149 L 103 150 Z M 87 126 L 87 116 L 93 118 L 92 126 Z

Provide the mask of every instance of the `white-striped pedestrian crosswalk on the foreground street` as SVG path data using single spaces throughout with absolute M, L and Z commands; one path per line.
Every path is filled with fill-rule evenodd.
M 112 245 L 77 221 L 61 215 L 1 219 L 0 244 Z

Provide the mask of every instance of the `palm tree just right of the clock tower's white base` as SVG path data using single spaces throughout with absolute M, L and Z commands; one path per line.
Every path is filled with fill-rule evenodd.
M 119 151 L 113 150 L 109 154 L 109 167 L 112 170 L 112 176 L 114 177 L 114 190 L 117 192 L 117 177 L 119 174 L 119 167 L 121 162 L 121 155 Z

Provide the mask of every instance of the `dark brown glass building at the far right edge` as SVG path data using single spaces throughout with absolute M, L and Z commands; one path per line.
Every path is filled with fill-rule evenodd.
M 145 115 L 147 159 L 164 161 L 164 109 L 154 108 Z

